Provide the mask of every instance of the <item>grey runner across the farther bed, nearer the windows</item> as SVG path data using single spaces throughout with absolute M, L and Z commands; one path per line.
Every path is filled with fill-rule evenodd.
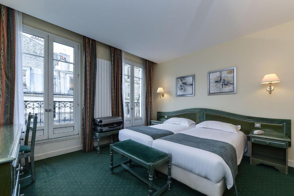
M 144 127 L 127 127 L 126 129 L 149 135 L 153 140 L 162 138 L 164 136 L 172 135 L 173 132 L 164 129 L 157 129 L 149 126 Z

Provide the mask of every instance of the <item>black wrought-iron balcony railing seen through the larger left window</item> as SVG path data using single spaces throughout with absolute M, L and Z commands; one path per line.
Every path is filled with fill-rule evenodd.
M 53 122 L 54 124 L 65 124 L 74 122 L 74 102 L 73 101 L 54 101 L 53 102 Z M 64 109 L 63 109 L 64 108 Z M 64 112 L 63 110 L 69 110 Z M 24 101 L 24 120 L 25 124 L 29 113 L 38 115 L 38 126 L 44 125 L 44 102 L 43 101 Z M 32 122 L 31 122 L 32 123 Z

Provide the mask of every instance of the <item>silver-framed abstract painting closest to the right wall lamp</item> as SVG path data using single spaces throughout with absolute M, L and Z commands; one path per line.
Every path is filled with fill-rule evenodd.
M 207 73 L 208 95 L 235 94 L 236 86 L 236 67 Z

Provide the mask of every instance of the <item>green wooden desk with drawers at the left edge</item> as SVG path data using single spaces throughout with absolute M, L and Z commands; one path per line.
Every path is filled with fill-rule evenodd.
M 22 124 L 0 126 L 1 196 L 19 195 L 18 179 L 23 174 L 18 160 L 22 128 Z

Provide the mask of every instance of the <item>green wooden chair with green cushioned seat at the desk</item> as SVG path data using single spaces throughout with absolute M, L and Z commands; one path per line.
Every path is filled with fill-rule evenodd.
M 33 127 L 30 127 L 31 125 L 31 119 L 34 119 Z M 36 176 L 35 176 L 35 162 L 34 162 L 34 148 L 35 148 L 35 140 L 36 140 L 36 130 L 37 130 L 37 121 L 38 116 L 37 114 L 33 115 L 29 113 L 28 116 L 28 122 L 26 124 L 26 136 L 24 140 L 24 145 L 21 145 L 19 148 L 19 159 L 24 158 L 25 160 L 25 169 L 26 172 L 29 172 L 29 157 L 31 160 L 31 175 L 23 177 L 19 179 L 19 181 L 23 181 L 29 178 L 32 178 L 32 182 L 35 182 Z M 31 147 L 28 146 L 29 143 L 29 132 L 32 131 L 32 140 L 31 140 Z

